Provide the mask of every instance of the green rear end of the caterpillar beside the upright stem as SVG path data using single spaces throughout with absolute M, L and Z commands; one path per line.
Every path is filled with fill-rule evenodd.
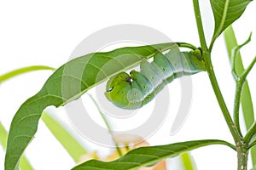
M 191 55 L 191 63 L 195 68 L 200 69 L 201 71 L 207 71 L 205 62 L 201 56 L 201 50 L 200 49 L 195 49 L 191 51 L 193 55 Z

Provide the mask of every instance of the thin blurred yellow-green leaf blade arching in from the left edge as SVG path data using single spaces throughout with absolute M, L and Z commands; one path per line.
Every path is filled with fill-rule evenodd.
M 10 71 L 3 76 L 0 76 L 0 82 L 7 81 L 9 78 L 16 77 L 20 74 L 24 74 L 26 72 L 31 72 L 31 71 L 42 71 L 42 70 L 50 70 L 54 71 L 55 69 L 49 66 L 44 66 L 44 65 L 33 65 L 33 66 L 28 66 L 28 67 L 23 67 L 20 69 L 17 69 L 15 71 Z

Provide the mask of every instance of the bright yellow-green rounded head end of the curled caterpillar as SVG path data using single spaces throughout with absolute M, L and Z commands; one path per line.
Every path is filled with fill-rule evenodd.
M 125 108 L 129 101 L 124 95 L 127 94 L 126 91 L 131 89 L 130 82 L 131 77 L 126 72 L 111 77 L 107 82 L 105 96 L 114 105 Z

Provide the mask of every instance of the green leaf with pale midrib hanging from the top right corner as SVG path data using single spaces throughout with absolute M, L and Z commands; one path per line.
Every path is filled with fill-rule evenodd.
M 237 20 L 252 0 L 211 0 L 212 12 L 215 20 L 215 28 L 210 49 L 213 42 L 224 29 Z

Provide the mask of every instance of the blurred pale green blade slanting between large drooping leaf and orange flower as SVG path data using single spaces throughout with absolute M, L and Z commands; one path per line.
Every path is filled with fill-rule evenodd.
M 79 144 L 77 139 L 74 139 L 73 135 L 67 131 L 67 128 L 62 123 L 44 112 L 42 115 L 44 124 L 49 128 L 50 132 L 61 143 L 61 145 L 67 150 L 68 154 L 72 156 L 75 162 L 80 161 L 80 157 L 86 154 L 84 147 Z

